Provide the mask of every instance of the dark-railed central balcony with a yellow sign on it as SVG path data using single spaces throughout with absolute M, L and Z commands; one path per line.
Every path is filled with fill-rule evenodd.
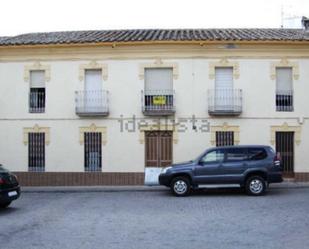
M 142 91 L 142 110 L 148 116 L 168 116 L 175 113 L 174 90 Z

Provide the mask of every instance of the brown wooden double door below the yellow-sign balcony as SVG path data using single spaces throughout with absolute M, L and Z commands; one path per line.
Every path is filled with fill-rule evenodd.
M 171 131 L 147 131 L 145 137 L 145 166 L 166 167 L 172 164 L 173 133 Z

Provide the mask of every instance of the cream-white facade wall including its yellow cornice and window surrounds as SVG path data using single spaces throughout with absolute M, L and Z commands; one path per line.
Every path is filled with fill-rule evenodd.
M 184 45 L 185 46 L 185 45 Z M 179 49 L 179 50 L 178 50 Z M 222 130 L 236 127 L 236 143 L 274 145 L 274 130 L 295 131 L 294 171 L 309 173 L 306 154 L 309 151 L 309 47 L 250 47 L 228 51 L 219 45 L 213 50 L 203 47 L 155 46 L 71 49 L 23 48 L 0 50 L 0 151 L 1 163 L 12 171 L 28 171 L 28 146 L 25 128 L 49 128 L 45 148 L 46 172 L 84 172 L 84 145 L 80 128 L 104 127 L 102 172 L 144 172 L 145 139 L 143 131 L 120 132 L 120 117 L 153 123 L 158 117 L 142 113 L 142 70 L 151 67 L 173 67 L 173 89 L 179 118 L 201 118 L 209 121 L 210 131 L 187 131 L 175 126 L 173 162 L 195 158 L 212 143 L 212 127 Z M 115 52 L 114 52 L 115 51 Z M 179 51 L 179 53 L 177 52 Z M 280 52 L 281 51 L 281 52 Z M 284 51 L 282 53 L 282 51 Z M 226 52 L 226 53 L 225 53 Z M 303 52 L 303 53 L 302 53 Z M 304 52 L 306 54 L 304 54 Z M 85 54 L 86 53 L 86 54 Z M 86 66 L 85 66 L 86 65 Z M 233 67 L 233 85 L 242 89 L 242 113 L 239 116 L 209 116 L 207 91 L 215 88 L 213 67 Z M 294 111 L 277 112 L 274 67 L 292 67 Z M 101 68 L 102 89 L 109 92 L 109 115 L 80 117 L 75 113 L 75 91 L 84 90 L 83 70 Z M 27 72 L 48 70 L 44 113 L 29 113 Z M 49 75 L 48 75 L 49 74 Z M 123 122 L 126 123 L 124 120 Z M 177 122 L 176 122 L 177 123 Z M 197 124 L 199 125 L 199 124 Z M 199 128 L 199 127 L 197 127 Z M 218 128 L 218 127 L 217 127 Z

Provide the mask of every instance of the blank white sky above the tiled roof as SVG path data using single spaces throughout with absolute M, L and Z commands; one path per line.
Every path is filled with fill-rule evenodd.
M 280 28 L 309 0 L 1 0 L 0 36 L 132 28 Z

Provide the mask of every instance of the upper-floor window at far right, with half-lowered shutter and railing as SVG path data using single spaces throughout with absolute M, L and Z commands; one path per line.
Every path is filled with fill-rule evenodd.
M 276 69 L 276 110 L 281 112 L 293 111 L 292 68 Z

